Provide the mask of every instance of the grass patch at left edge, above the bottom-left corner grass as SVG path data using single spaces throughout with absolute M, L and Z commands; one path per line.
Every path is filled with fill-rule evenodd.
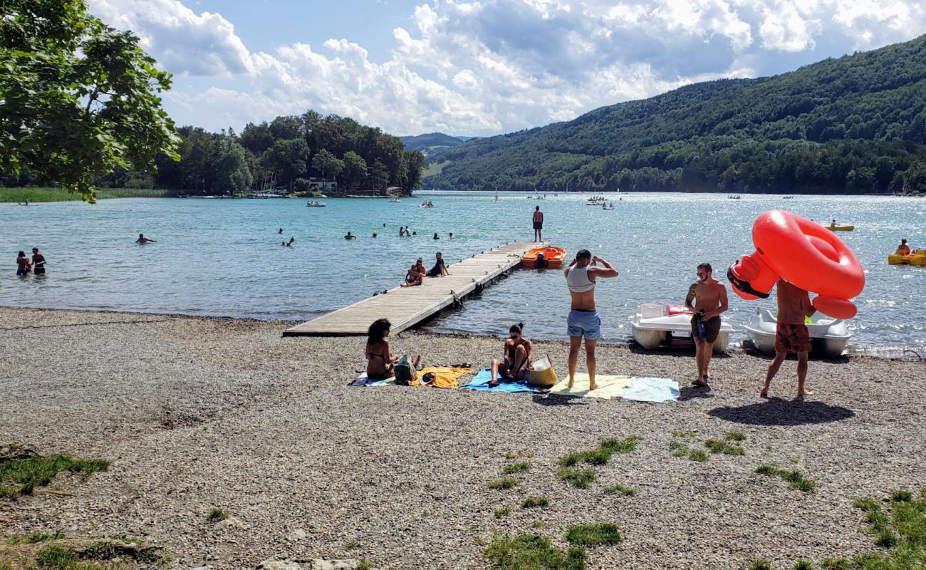
M 106 471 L 109 464 L 104 459 L 74 459 L 63 453 L 0 462 L 0 496 L 31 495 L 36 487 L 48 485 L 62 471 L 80 474 L 86 480 L 98 471 Z

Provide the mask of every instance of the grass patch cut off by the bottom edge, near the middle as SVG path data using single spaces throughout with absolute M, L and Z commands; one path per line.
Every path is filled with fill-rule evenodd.
M 549 538 L 521 534 L 495 535 L 482 551 L 496 570 L 585 570 L 588 554 L 582 548 L 557 549 Z

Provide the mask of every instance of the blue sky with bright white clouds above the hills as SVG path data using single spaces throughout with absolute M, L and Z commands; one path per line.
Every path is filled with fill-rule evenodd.
M 210 131 L 315 109 L 485 136 L 926 33 L 926 0 L 89 0 Z

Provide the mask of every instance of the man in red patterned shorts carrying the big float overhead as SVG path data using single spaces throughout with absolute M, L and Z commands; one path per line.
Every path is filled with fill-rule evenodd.
M 817 312 L 810 304 L 807 291 L 791 285 L 783 279 L 778 280 L 778 327 L 775 330 L 775 360 L 769 365 L 765 376 L 765 385 L 759 396 L 768 398 L 771 379 L 775 377 L 788 352 L 797 353 L 797 397 L 812 396 L 813 392 L 804 388 L 807 379 L 807 355 L 810 352 L 810 333 L 804 318 Z

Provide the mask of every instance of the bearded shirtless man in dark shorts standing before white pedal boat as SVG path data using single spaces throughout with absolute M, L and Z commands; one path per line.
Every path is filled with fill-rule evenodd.
M 694 386 L 707 386 L 707 365 L 714 354 L 714 341 L 720 335 L 720 313 L 727 310 L 727 287 L 712 276 L 710 263 L 697 266 L 697 281 L 688 288 L 685 307 L 694 310 L 692 340 L 697 378 Z

